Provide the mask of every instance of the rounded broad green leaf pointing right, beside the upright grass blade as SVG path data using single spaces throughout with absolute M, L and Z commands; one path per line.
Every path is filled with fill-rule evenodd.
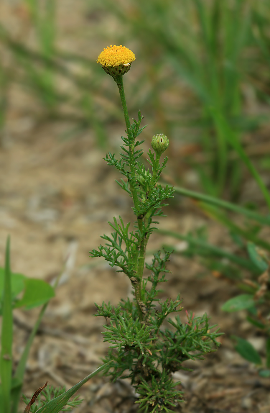
M 54 289 L 50 284 L 43 280 L 25 278 L 24 283 L 24 296 L 21 300 L 17 301 L 15 308 L 26 306 L 26 309 L 31 309 L 44 304 L 54 297 Z

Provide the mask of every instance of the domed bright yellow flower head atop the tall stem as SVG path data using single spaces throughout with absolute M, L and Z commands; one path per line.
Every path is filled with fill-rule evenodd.
M 103 49 L 97 58 L 97 63 L 111 76 L 123 75 L 135 60 L 134 53 L 125 46 L 112 46 Z

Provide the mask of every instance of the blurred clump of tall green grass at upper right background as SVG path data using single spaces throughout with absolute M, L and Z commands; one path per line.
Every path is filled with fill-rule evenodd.
M 162 93 L 168 88 L 168 81 L 164 81 L 166 73 L 171 84 L 175 83 L 175 93 L 181 93 L 179 81 L 192 92 L 193 98 L 187 98 L 184 108 L 184 112 L 189 111 L 189 118 L 179 119 L 180 108 L 170 107 L 163 122 L 168 129 L 164 133 L 171 137 L 177 124 L 187 124 L 190 119 L 189 126 L 199 128 L 198 141 L 209 159 L 201 167 L 190 160 L 197 168 L 203 189 L 220 196 L 227 188 L 231 198 L 237 197 L 243 168 L 238 159 L 232 159 L 232 154 L 237 152 L 243 159 L 243 151 L 239 150 L 242 135 L 258 128 L 262 121 L 259 116 L 247 116 L 242 87 L 250 83 L 251 60 L 253 70 L 258 69 L 250 58 L 251 49 L 261 56 L 261 64 L 268 64 L 269 7 L 268 14 L 262 17 L 255 1 L 106 0 L 105 4 L 118 16 L 125 36 L 137 39 L 140 58 L 149 62 L 145 68 L 147 81 L 151 90 L 158 91 L 149 96 L 152 107 L 157 112 L 166 112 L 162 102 Z M 258 26 L 256 41 L 254 23 Z M 123 42 L 123 34 L 117 39 Z M 250 164 L 247 166 L 251 169 Z

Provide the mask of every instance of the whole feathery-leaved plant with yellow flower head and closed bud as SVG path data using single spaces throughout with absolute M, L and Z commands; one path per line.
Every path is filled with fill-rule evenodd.
M 106 366 L 103 371 L 118 377 L 129 377 L 139 399 L 140 411 L 169 412 L 182 400 L 178 383 L 173 382 L 172 373 L 183 368 L 182 363 L 188 359 L 201 359 L 204 354 L 218 346 L 218 330 L 209 326 L 206 314 L 194 317 L 187 313 L 187 323 L 182 323 L 175 313 L 182 311 L 180 295 L 176 299 L 159 299 L 159 283 L 165 282 L 166 263 L 169 252 L 159 251 L 154 254 L 151 264 L 145 263 L 147 242 L 158 224 L 156 217 L 164 216 L 163 201 L 173 197 L 173 188 L 163 187 L 158 183 L 168 157 L 161 155 L 169 145 L 168 138 L 159 133 L 152 139 L 152 150 L 147 152 L 150 168 L 145 166 L 140 157 L 143 140 L 137 140 L 146 126 L 141 127 L 142 115 L 130 124 L 123 88 L 123 75 L 135 60 L 133 52 L 126 47 L 111 46 L 99 55 L 97 63 L 116 82 L 124 117 L 126 136 L 122 136 L 121 158 L 107 154 L 104 160 L 114 166 L 122 175 L 116 181 L 133 199 L 135 222 L 133 229 L 130 222 L 125 224 L 121 216 L 109 222 L 113 229 L 110 236 L 103 235 L 105 246 L 90 252 L 91 257 L 103 257 L 111 267 L 125 273 L 133 287 L 134 299 L 129 298 L 117 306 L 104 302 L 97 306 L 96 316 L 107 320 L 104 341 L 111 343 L 104 358 Z M 165 204 L 166 205 L 166 204 Z M 147 275 L 144 275 L 144 270 Z M 170 314 L 172 318 L 168 318 Z

